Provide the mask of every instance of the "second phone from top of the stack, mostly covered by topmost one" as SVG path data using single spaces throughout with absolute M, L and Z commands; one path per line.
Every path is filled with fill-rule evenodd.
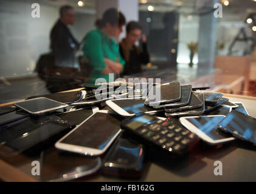
M 189 104 L 191 93 L 192 85 L 181 85 L 181 99 L 179 101 L 167 104 L 160 104 L 157 106 L 153 106 L 153 108 L 161 109 L 163 107 L 166 107 L 170 109 L 170 107 L 182 107 Z

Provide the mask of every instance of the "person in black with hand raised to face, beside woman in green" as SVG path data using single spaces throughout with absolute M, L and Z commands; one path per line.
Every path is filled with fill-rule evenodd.
M 147 37 L 141 34 L 141 25 L 131 21 L 126 25 L 126 38 L 120 43 L 120 54 L 125 59 L 123 75 L 142 73 L 141 64 L 147 64 L 150 57 L 147 51 Z M 136 45 L 142 39 L 142 50 Z

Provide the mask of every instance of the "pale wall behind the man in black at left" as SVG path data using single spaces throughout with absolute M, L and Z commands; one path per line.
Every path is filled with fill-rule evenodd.
M 31 17 L 31 3 L 0 1 L 0 76 L 28 75 L 36 60 L 49 52 L 49 33 L 58 19 L 56 5 L 40 4 L 40 18 Z M 72 32 L 78 41 L 94 28 L 95 15 L 78 14 Z

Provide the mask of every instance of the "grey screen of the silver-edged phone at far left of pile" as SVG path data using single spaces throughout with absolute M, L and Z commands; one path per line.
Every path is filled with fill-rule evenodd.
M 29 112 L 40 112 L 42 110 L 54 109 L 58 107 L 64 107 L 65 104 L 57 101 L 52 101 L 48 98 L 35 98 L 27 101 L 15 103 L 19 108 L 27 110 Z M 67 106 L 67 104 L 66 104 Z

